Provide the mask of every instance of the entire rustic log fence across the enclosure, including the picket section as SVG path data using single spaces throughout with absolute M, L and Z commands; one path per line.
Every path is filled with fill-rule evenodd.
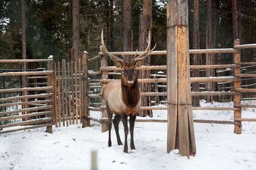
M 256 121 L 256 119 L 242 118 L 242 108 L 256 108 L 256 105 L 245 105 L 241 103 L 242 94 L 256 93 L 255 83 L 252 85 L 243 85 L 243 79 L 255 79 L 256 74 L 243 73 L 245 67 L 254 67 L 256 62 L 241 62 L 240 50 L 245 48 L 256 48 L 256 44 L 240 45 L 235 40 L 234 48 L 229 49 L 200 49 L 190 50 L 191 53 L 233 53 L 234 62 L 225 65 L 190 65 L 190 69 L 205 70 L 215 68 L 221 71 L 230 71 L 232 74 L 217 77 L 191 77 L 190 82 L 214 82 L 221 88 L 216 91 L 192 91 L 191 96 L 231 96 L 234 107 L 231 108 L 212 108 L 212 107 L 193 107 L 193 110 L 209 111 L 233 111 L 233 121 L 214 121 L 214 120 L 194 120 L 195 123 L 217 123 L 234 124 L 235 133 L 242 132 L 242 121 Z M 115 55 L 135 55 L 136 52 L 113 52 Z M 139 55 L 141 52 L 137 52 Z M 166 55 L 166 50 L 153 51 L 151 55 Z M 88 71 L 88 63 L 96 59 L 101 60 L 101 67 L 98 71 Z M 53 58 L 48 59 L 14 59 L 0 60 L 0 63 L 24 63 L 24 62 L 47 62 L 46 70 L 37 71 L 7 71 L 0 73 L 0 77 L 28 76 L 30 87 L 17 87 L 14 85 L 8 89 L 0 89 L 0 129 L 1 133 L 15 132 L 18 130 L 33 129 L 37 127 L 47 127 L 51 132 L 52 124 L 56 127 L 69 126 L 71 124 L 82 123 L 83 127 L 89 126 L 89 121 L 95 121 L 102 124 L 102 131 L 106 130 L 106 106 L 101 99 L 101 89 L 110 81 L 118 81 L 120 77 L 119 69 L 115 66 L 107 66 L 107 59 L 103 53 L 88 59 L 86 52 L 83 52 L 82 58 L 76 62 L 53 63 Z M 246 65 L 242 67 L 242 65 Z M 156 72 L 166 72 L 166 65 L 142 65 L 138 70 L 155 70 Z M 115 79 L 109 79 L 109 76 Z M 88 77 L 90 77 L 88 79 Z M 100 77 L 100 78 L 98 78 Z M 167 96 L 167 91 L 159 91 L 158 88 L 167 88 L 167 77 L 163 74 L 152 74 L 150 79 L 138 79 L 140 83 L 152 83 L 153 91 L 142 93 L 142 96 L 155 97 L 157 103 L 167 103 L 166 100 L 160 100 L 159 97 Z M 160 84 L 162 83 L 162 84 Z M 222 87 L 223 83 L 231 84 L 231 87 Z M 28 95 L 21 95 L 26 91 Z M 2 97 L 2 94 L 13 94 L 13 96 Z M 255 99 L 255 96 L 252 98 Z M 3 108 L 18 106 L 21 109 L 6 110 Z M 141 109 L 164 109 L 159 107 L 141 107 Z M 101 118 L 90 117 L 90 111 L 101 111 Z M 141 120 L 144 122 L 167 122 L 167 120 Z

